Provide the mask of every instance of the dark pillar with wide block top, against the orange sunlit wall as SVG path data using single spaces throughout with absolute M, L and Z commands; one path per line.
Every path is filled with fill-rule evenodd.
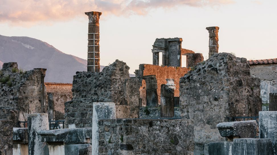
M 146 106 L 149 108 L 158 106 L 158 86 L 156 76 L 143 76 L 142 79 L 144 79 L 146 83 Z

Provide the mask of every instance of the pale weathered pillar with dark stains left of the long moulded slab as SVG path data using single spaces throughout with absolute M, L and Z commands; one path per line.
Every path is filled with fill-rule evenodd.
M 29 155 L 44 155 L 46 143 L 40 142 L 37 131 L 48 130 L 48 114 L 28 114 L 28 151 Z

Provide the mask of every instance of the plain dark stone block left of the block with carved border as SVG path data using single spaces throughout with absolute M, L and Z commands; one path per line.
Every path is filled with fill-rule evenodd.
M 233 155 L 233 142 L 213 142 L 205 144 L 204 155 Z

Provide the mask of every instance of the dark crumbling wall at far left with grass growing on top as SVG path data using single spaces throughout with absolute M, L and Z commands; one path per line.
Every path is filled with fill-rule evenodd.
M 41 112 L 40 70 L 23 72 L 16 62 L 4 63 L 0 81 L 0 107 L 18 110 L 20 121 L 26 121 L 27 114 Z

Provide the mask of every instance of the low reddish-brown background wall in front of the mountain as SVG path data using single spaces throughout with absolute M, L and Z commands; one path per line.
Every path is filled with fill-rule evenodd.
M 72 100 L 72 83 L 52 83 L 45 82 L 46 94 L 54 94 L 55 104 L 55 119 L 64 119 L 64 103 Z M 48 102 L 48 96 L 46 95 L 46 102 Z

